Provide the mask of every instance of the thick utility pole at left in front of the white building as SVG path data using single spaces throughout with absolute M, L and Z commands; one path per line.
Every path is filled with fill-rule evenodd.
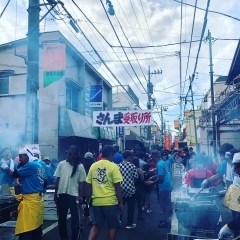
M 29 0 L 25 114 L 25 143 L 28 144 L 38 143 L 39 12 L 39 0 Z

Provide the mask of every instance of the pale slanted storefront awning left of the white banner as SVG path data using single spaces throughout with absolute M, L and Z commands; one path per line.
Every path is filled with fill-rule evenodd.
M 60 108 L 59 136 L 77 136 L 83 138 L 97 139 L 97 131 L 92 127 L 92 119 L 88 116 Z M 96 133 L 95 133 L 96 132 Z

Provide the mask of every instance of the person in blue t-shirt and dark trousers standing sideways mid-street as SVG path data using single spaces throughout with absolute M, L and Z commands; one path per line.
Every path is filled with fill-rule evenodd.
M 159 187 L 159 200 L 163 209 L 164 220 L 158 225 L 159 228 L 170 227 L 170 214 L 171 214 L 171 192 L 172 192 L 172 179 L 169 171 L 169 166 L 166 162 L 166 152 L 161 154 L 161 160 L 157 163 L 157 179 L 151 183 L 154 185 L 158 183 Z

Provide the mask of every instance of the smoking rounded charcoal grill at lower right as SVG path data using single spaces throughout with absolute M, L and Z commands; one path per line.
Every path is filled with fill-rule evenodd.
M 176 199 L 175 212 L 180 225 L 187 229 L 213 229 L 220 218 L 220 211 L 212 201 L 193 202 Z

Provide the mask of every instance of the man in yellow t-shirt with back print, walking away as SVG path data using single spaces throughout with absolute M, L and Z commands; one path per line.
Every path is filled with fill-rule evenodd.
M 92 164 L 87 175 L 87 197 L 92 198 L 93 227 L 88 240 L 94 240 L 106 220 L 108 240 L 116 239 L 116 228 L 120 226 L 120 214 L 123 212 L 123 201 L 120 182 L 122 175 L 118 165 L 113 163 L 115 148 L 105 146 L 102 149 L 102 160 Z

